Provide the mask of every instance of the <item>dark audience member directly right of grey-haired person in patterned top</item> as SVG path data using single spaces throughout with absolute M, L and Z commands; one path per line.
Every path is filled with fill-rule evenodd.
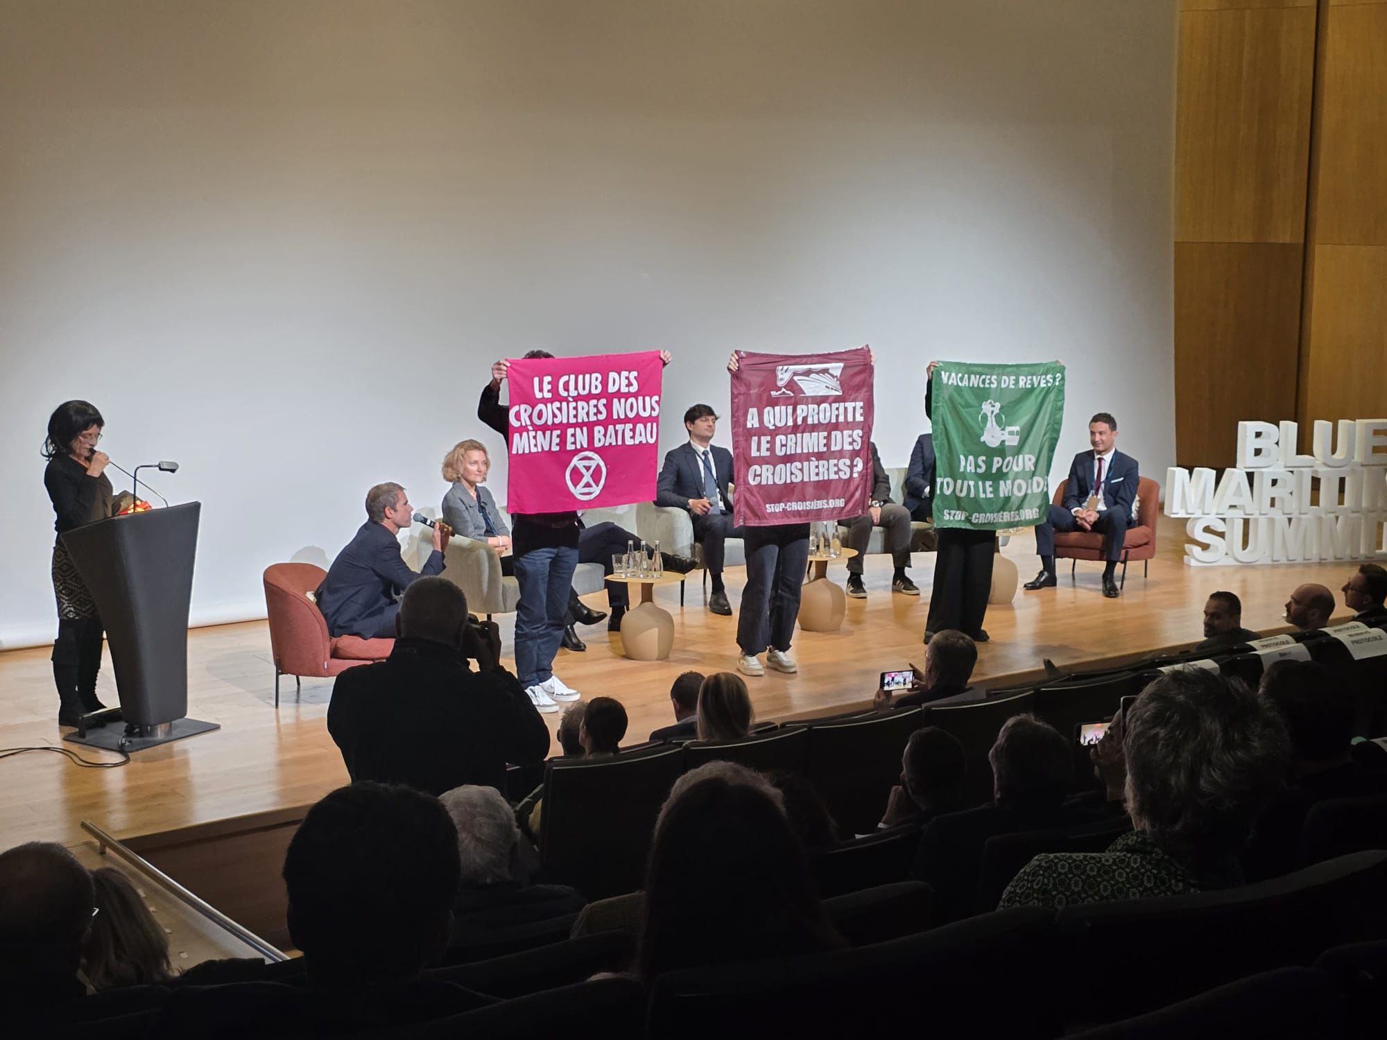
M 1248 881 L 1276 878 L 1300 863 L 1301 826 L 1316 801 L 1380 795 L 1384 777 L 1365 768 L 1351 752 L 1354 695 L 1318 661 L 1276 661 L 1258 685 L 1276 707 L 1291 740 L 1289 786 L 1257 818 L 1243 850 Z

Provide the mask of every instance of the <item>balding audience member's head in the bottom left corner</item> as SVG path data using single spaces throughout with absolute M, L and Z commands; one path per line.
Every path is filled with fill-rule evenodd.
M 78 979 L 92 924 L 92 875 L 61 844 L 0 853 L 0 1005 L 6 1025 L 54 1025 L 86 997 Z M 36 1033 L 35 1033 L 36 1034 Z M 14 1036 L 31 1036 L 21 1029 Z

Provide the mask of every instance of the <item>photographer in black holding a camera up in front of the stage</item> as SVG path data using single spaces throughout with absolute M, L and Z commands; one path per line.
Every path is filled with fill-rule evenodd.
M 506 764 L 549 753 L 549 727 L 501 667 L 501 634 L 467 614 L 462 589 L 419 578 L 399 603 L 395 649 L 337 677 L 327 732 L 352 781 L 442 795 L 465 783 L 505 793 Z M 476 661 L 476 668 L 472 667 Z

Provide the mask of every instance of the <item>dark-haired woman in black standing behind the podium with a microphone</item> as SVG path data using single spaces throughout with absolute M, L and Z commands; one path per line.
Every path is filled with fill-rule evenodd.
M 58 638 L 53 643 L 53 681 L 58 684 L 58 725 L 105 707 L 96 697 L 104 627 L 92 593 L 62 546 L 62 532 L 111 516 L 110 458 L 97 451 L 105 420 L 86 401 L 65 401 L 49 417 L 43 484 L 57 514 L 53 593 L 58 600 Z

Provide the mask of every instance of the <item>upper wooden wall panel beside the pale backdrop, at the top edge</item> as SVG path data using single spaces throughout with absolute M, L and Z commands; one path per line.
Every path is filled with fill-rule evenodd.
M 1180 14 L 1175 240 L 1301 241 L 1315 8 Z

